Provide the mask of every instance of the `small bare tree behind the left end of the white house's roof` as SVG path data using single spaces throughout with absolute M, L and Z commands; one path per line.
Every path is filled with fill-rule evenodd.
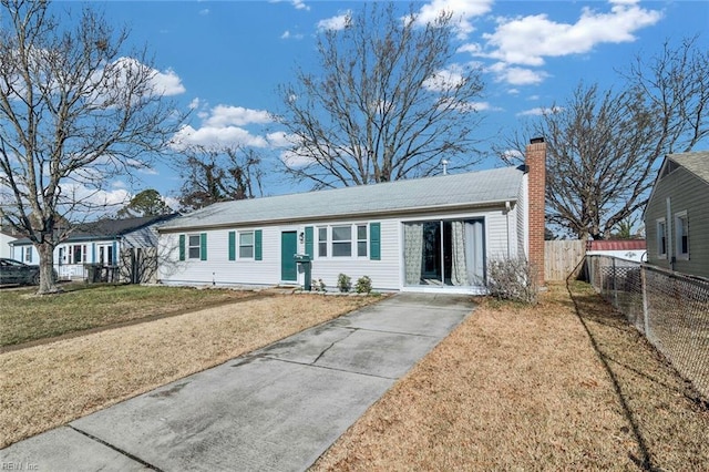
M 251 148 L 193 146 L 185 151 L 179 204 L 197 209 L 217 202 L 261 196 L 261 158 Z

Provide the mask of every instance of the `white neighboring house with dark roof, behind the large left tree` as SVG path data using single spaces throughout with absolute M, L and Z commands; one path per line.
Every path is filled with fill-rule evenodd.
M 76 225 L 69 237 L 54 248 L 54 268 L 61 279 L 85 278 L 85 266 L 95 264 L 116 268 L 122 281 L 154 280 L 156 226 L 178 215 L 101 219 Z M 27 264 L 39 264 L 37 248 L 28 238 L 13 242 L 12 248 L 13 258 Z

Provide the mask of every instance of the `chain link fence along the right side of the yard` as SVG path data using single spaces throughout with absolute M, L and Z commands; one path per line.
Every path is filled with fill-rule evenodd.
M 709 399 L 709 280 L 609 256 L 586 256 L 586 278 Z

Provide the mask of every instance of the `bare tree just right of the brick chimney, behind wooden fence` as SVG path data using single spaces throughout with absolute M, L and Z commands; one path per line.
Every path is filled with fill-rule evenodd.
M 546 219 L 580 239 L 604 238 L 646 202 L 654 116 L 633 92 L 578 85 L 532 125 L 546 141 Z M 518 136 L 518 135 L 517 135 Z M 514 148 L 526 140 L 515 137 Z

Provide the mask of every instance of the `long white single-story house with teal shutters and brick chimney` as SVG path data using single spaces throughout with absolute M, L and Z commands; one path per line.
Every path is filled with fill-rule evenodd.
M 217 203 L 162 225 L 160 279 L 174 285 L 302 285 L 369 276 L 374 289 L 484 291 L 492 258 L 544 267 L 545 152 L 526 166 Z

